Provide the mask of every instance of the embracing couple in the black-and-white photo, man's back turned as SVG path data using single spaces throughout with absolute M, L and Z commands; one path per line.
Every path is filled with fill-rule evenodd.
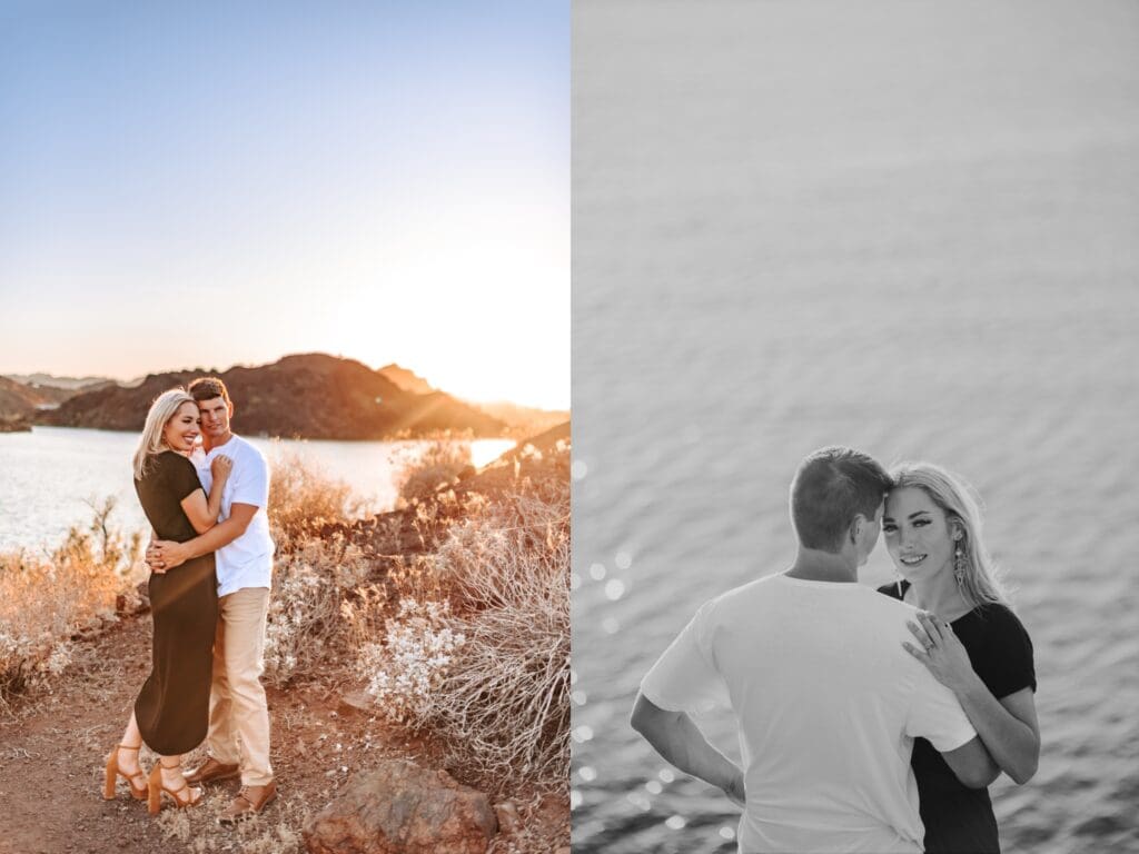
M 999 852 L 986 787 L 1035 773 L 1036 682 L 968 488 L 826 447 L 790 514 L 795 563 L 697 610 L 642 680 L 634 729 L 744 808 L 743 854 Z M 899 581 L 875 591 L 858 569 L 879 533 Z M 743 770 L 689 717 L 724 695 Z

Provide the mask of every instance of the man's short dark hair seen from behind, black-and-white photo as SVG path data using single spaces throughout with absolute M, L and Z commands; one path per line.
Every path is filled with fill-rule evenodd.
M 838 552 L 859 514 L 872 519 L 893 482 L 877 460 L 853 447 L 820 447 L 790 485 L 790 520 L 808 549 Z

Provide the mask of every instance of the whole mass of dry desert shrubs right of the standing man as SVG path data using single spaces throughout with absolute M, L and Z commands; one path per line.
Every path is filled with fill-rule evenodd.
M 428 733 L 449 767 L 499 794 L 564 789 L 568 444 L 549 460 L 523 447 L 527 470 L 540 474 L 523 476 L 511 461 L 485 491 L 456 488 L 469 452 L 445 445 L 405 461 L 398 485 L 412 503 L 363 541 L 346 518 L 329 532 L 344 493 L 296 465 L 270 502 L 274 532 L 292 533 L 279 539 L 267 680 L 346 680 L 338 663 L 351 662 L 376 714 Z M 417 532 L 413 548 L 401 527 Z

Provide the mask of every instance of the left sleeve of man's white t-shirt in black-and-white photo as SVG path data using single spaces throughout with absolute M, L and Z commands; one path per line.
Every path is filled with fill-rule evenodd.
M 707 624 L 712 602 L 705 602 L 681 630 L 652 670 L 640 690 L 659 708 L 698 714 L 727 705 L 727 688 L 712 665 Z

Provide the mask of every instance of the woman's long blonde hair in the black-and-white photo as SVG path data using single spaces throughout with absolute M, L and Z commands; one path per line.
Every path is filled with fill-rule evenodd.
M 902 462 L 894 466 L 891 476 L 895 490 L 921 490 L 944 511 L 950 531 L 960 532 L 956 545 L 965 558 L 960 581 L 965 600 L 974 608 L 990 602 L 1011 608 L 1002 573 L 981 540 L 981 499 L 976 491 L 959 475 L 932 462 Z

